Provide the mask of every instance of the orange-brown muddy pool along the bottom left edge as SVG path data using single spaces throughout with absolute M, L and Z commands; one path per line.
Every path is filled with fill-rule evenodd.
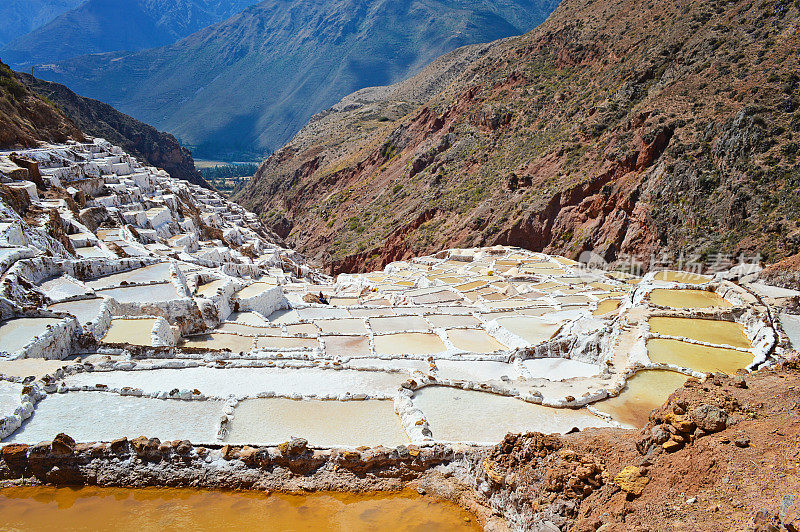
M 478 531 L 474 517 L 452 503 L 416 493 L 260 493 L 183 488 L 0 489 L 6 530 L 119 532 L 260 530 L 411 532 Z

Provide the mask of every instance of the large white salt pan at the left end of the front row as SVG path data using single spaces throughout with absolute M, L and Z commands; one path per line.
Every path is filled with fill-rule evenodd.
M 42 399 L 6 442 L 38 443 L 64 432 L 76 441 L 111 441 L 123 436 L 211 443 L 222 401 L 177 401 L 103 392 L 51 394 Z

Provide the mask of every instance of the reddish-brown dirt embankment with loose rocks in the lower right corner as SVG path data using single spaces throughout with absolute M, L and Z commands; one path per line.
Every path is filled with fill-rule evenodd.
M 640 431 L 509 435 L 483 464 L 523 526 L 800 530 L 800 367 L 690 379 Z

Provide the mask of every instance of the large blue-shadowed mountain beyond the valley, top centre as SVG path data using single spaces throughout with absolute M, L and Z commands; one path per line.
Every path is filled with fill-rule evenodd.
M 173 45 L 82 56 L 39 77 L 175 134 L 198 156 L 282 146 L 316 112 L 459 46 L 518 35 L 555 0 L 266 0 Z

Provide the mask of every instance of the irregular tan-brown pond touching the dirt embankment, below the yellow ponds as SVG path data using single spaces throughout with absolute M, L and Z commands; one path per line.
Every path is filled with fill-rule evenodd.
M 661 407 L 672 392 L 683 386 L 686 379 L 686 375 L 674 371 L 640 371 L 628 379 L 618 396 L 592 406 L 622 424 L 643 427 L 650 418 L 650 412 Z

